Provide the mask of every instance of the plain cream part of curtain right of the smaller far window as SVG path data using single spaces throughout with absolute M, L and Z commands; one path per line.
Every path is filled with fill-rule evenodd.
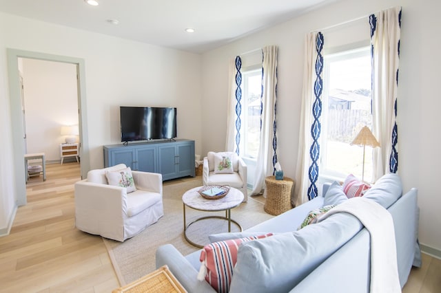
M 276 88 L 277 88 L 277 52 L 275 45 L 267 46 L 263 51 L 262 105 L 260 114 L 260 147 L 257 155 L 256 173 L 252 195 L 265 188 L 265 177 L 273 175 L 277 160 L 276 127 Z

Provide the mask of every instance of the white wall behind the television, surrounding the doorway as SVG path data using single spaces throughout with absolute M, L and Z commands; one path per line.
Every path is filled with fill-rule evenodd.
M 103 166 L 103 145 L 120 142 L 119 106 L 178 108 L 178 138 L 201 153 L 201 57 L 103 34 L 0 13 L 0 232 L 14 210 L 12 129 L 6 48 L 85 61 L 90 167 Z M 4 115 L 3 115 L 4 114 Z

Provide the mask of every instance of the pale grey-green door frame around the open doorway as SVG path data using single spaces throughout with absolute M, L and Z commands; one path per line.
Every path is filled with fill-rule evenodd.
M 81 157 L 81 178 L 87 177 L 90 170 L 89 141 L 88 141 L 88 116 L 85 94 L 85 61 L 81 58 L 45 54 L 17 49 L 7 49 L 8 76 L 10 91 L 10 114 L 12 123 L 12 146 L 14 147 L 14 175 L 15 188 L 17 191 L 17 206 L 23 206 L 28 201 L 26 198 L 26 180 L 24 167 L 25 148 L 23 144 L 23 113 L 21 112 L 21 92 L 19 76 L 19 58 L 39 59 L 43 61 L 55 61 L 76 65 L 76 85 L 78 87 L 78 111 L 79 111 L 79 136 Z

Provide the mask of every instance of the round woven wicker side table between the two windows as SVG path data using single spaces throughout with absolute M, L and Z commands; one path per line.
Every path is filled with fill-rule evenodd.
M 283 177 L 283 180 L 276 180 L 276 177 L 269 176 L 265 178 L 267 186 L 267 199 L 263 209 L 270 215 L 280 215 L 290 210 L 291 192 L 294 180 L 289 177 Z

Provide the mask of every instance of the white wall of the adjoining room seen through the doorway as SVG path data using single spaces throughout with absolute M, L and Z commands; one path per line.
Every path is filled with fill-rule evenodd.
M 61 160 L 61 126 L 78 124 L 76 65 L 21 58 L 28 153 Z M 77 138 L 78 140 L 78 138 Z

